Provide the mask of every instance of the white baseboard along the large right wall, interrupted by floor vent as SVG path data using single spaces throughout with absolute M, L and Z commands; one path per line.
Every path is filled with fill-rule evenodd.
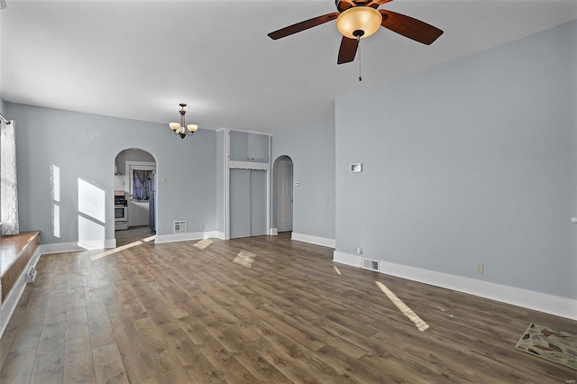
M 333 261 L 341 264 L 361 267 L 362 256 L 334 251 Z M 577 320 L 577 300 L 558 297 L 528 289 L 508 287 L 478 279 L 464 278 L 448 273 L 422 270 L 387 261 L 379 261 L 380 273 L 409 279 L 435 287 L 453 289 L 478 297 L 489 298 L 514 306 L 523 306 L 551 315 Z

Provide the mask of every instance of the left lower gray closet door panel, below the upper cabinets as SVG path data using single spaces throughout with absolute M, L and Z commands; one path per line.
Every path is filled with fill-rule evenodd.
M 251 235 L 251 171 L 230 170 L 231 239 Z

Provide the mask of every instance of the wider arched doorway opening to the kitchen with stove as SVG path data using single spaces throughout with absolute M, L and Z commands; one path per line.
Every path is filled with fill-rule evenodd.
M 131 148 L 114 159 L 114 238 L 116 246 L 156 233 L 156 160 Z M 124 206 L 124 207 L 123 207 Z

